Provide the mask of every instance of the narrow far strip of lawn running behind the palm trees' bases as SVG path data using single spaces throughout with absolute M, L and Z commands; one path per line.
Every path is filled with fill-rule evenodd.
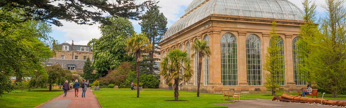
M 98 90 L 92 91 L 96 96 L 136 96 L 136 90 Z M 139 91 L 139 95 L 144 96 L 174 96 L 173 90 L 154 90 L 154 89 L 143 89 Z M 196 92 L 190 91 L 179 91 L 179 95 L 197 95 Z M 200 93 L 200 95 L 222 95 L 221 93 Z

